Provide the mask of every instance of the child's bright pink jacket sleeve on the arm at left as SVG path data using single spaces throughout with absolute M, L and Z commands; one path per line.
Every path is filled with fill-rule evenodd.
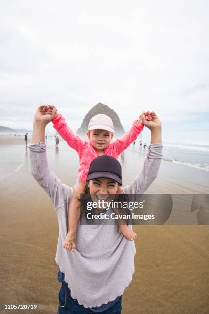
M 86 141 L 81 140 L 80 136 L 73 133 L 67 125 L 65 118 L 61 114 L 57 114 L 55 119 L 52 120 L 52 123 L 62 139 L 64 139 L 70 147 L 75 149 L 78 154 L 82 153 Z

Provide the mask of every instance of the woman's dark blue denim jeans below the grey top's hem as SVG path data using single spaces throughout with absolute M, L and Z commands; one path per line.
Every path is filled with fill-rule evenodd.
M 119 300 L 106 311 L 100 312 L 103 314 L 121 314 L 122 310 L 122 296 Z M 70 290 L 66 283 L 62 282 L 62 287 L 59 291 L 59 307 L 57 314 L 91 314 L 93 311 L 90 308 L 85 308 L 80 305 L 77 300 L 70 295 Z

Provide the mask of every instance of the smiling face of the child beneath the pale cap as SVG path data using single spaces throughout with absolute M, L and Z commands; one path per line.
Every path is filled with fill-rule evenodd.
M 87 136 L 94 148 L 104 150 L 110 144 L 113 133 L 106 130 L 91 130 Z

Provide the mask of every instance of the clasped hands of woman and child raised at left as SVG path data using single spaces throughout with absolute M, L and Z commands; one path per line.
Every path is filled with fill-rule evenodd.
M 50 121 L 52 121 L 57 114 L 56 107 L 52 105 L 42 105 L 38 107 L 35 117 L 34 123 L 41 123 L 47 125 Z

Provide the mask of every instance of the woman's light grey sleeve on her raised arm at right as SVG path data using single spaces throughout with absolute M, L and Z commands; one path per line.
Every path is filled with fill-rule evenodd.
M 143 194 L 157 177 L 162 159 L 162 144 L 150 144 L 141 173 L 122 190 L 125 194 Z

